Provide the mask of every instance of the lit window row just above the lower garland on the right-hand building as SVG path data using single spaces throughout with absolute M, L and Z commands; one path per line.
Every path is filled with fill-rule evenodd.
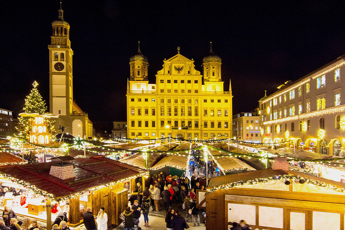
M 335 94 L 334 96 L 334 106 L 338 106 L 341 103 L 341 98 L 340 98 L 340 93 Z M 326 108 L 326 98 L 318 98 L 316 100 L 316 110 L 320 110 L 320 109 L 324 109 Z M 309 113 L 310 110 L 310 102 L 306 102 L 306 113 Z M 284 113 L 283 113 L 284 112 Z M 298 105 L 298 114 L 302 114 L 303 113 L 303 106 L 301 104 Z M 280 110 L 279 111 L 279 116 L 278 116 L 278 111 L 273 112 L 273 114 L 270 114 L 270 120 L 272 119 L 278 119 L 278 118 L 282 118 L 283 115 L 284 117 L 287 117 L 289 114 L 289 116 L 294 116 L 296 115 L 296 109 L 295 106 L 291 106 L 289 108 L 289 113 L 287 113 L 287 109 L 284 108 L 284 111 Z M 266 115 L 261 115 L 261 121 L 266 121 Z

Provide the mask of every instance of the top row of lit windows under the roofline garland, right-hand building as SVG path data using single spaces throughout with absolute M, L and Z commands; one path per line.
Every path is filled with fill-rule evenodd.
M 340 80 L 340 68 L 334 70 L 334 82 Z M 326 76 L 320 76 L 316 78 L 316 88 L 322 88 L 326 86 Z M 302 86 L 298 87 L 298 96 L 302 96 Z M 306 83 L 306 93 L 310 92 L 310 83 Z M 284 102 L 286 102 L 286 94 L 283 95 Z M 295 89 L 289 91 L 289 99 L 292 100 L 295 98 Z M 279 96 L 279 104 L 282 103 L 282 95 Z M 273 105 L 278 104 L 278 97 L 273 98 Z M 269 102 L 270 107 L 272 107 L 272 100 Z M 266 109 L 266 104 L 264 104 L 265 108 L 263 108 L 263 104 L 261 104 L 261 110 Z

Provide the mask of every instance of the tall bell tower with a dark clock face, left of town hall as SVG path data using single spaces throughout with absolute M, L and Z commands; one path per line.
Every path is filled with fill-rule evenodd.
M 59 9 L 58 20 L 51 23 L 52 36 L 49 49 L 49 108 L 53 115 L 70 115 L 73 108 L 73 76 L 69 24 Z

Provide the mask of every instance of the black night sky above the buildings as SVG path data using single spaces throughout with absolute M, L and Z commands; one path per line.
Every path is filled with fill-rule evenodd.
M 0 108 L 20 112 L 33 80 L 49 105 L 48 45 L 59 1 L 2 4 Z M 345 54 L 344 1 L 68 0 L 62 9 L 74 99 L 95 122 L 126 119 L 128 62 L 138 40 L 151 83 L 177 46 L 202 71 L 212 41 L 226 91 L 231 79 L 234 114 L 254 109 L 265 89 L 273 93 Z

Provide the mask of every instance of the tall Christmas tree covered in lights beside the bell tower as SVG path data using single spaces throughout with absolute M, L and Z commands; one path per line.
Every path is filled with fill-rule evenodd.
M 32 90 L 30 94 L 25 99 L 25 105 L 23 107 L 23 111 L 26 114 L 33 114 L 38 113 L 39 115 L 47 114 L 47 107 L 46 102 L 43 100 L 42 96 L 38 92 L 38 83 L 34 81 L 32 83 Z M 18 117 L 19 124 L 17 126 L 18 130 L 18 137 L 29 140 L 30 132 L 32 130 L 33 120 L 30 116 L 19 116 Z M 54 134 L 55 128 L 51 125 L 54 121 L 50 121 L 47 127 L 49 133 Z

